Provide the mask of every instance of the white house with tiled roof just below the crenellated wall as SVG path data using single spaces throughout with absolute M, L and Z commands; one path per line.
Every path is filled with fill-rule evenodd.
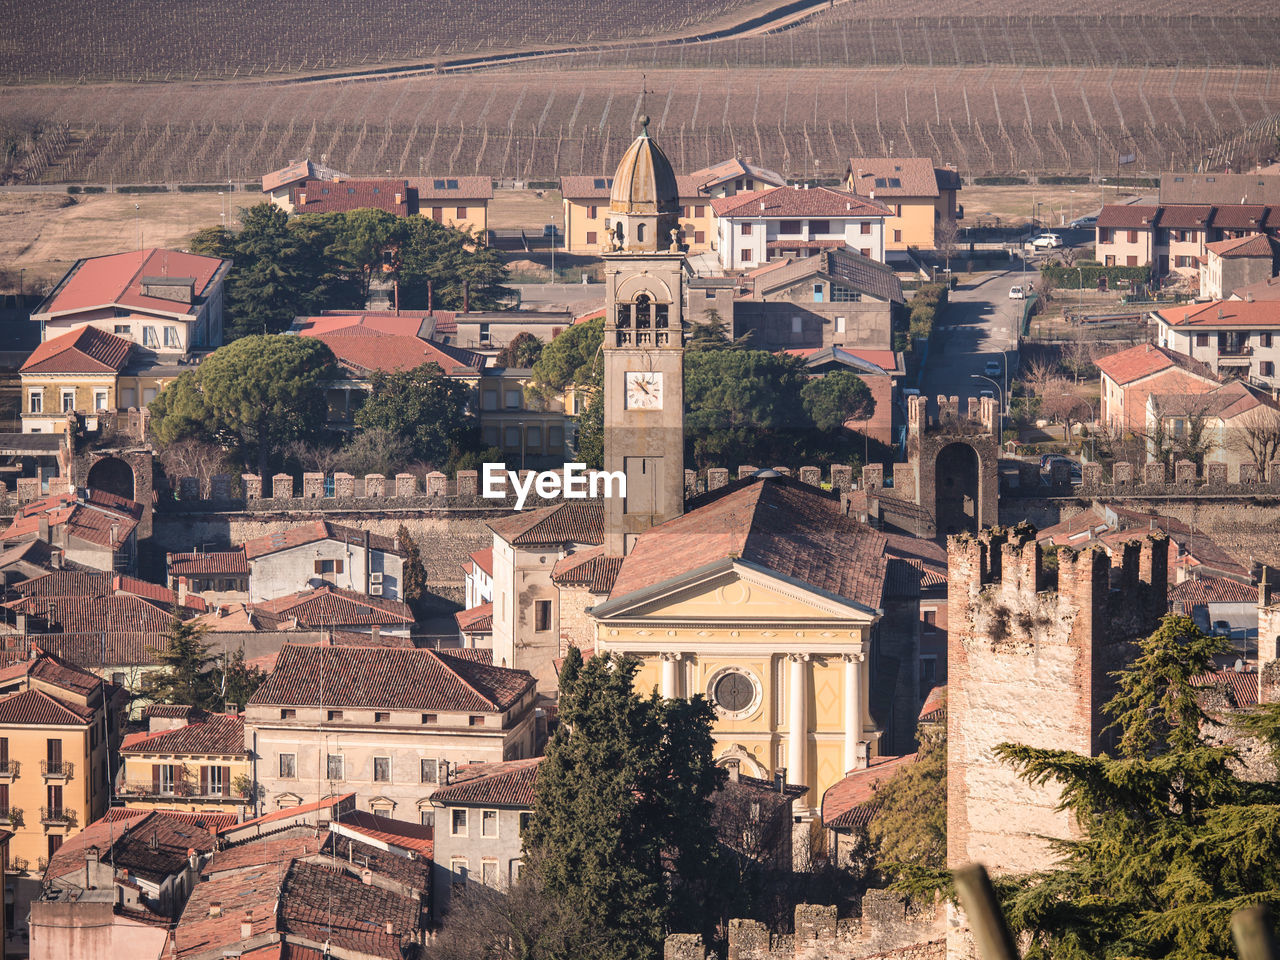
M 314 520 L 255 536 L 241 549 L 248 563 L 252 603 L 324 584 L 371 598 L 401 599 L 404 554 L 393 536 Z

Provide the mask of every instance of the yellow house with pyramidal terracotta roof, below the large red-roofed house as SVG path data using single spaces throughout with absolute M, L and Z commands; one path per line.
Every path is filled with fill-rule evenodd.
M 22 365 L 22 431 L 49 434 L 76 413 L 96 417 L 116 410 L 120 372 L 133 344 L 86 325 L 45 340 Z

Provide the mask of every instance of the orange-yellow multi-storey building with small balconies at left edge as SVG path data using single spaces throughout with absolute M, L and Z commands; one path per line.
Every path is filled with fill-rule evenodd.
M 63 838 L 106 813 L 116 692 L 49 654 L 0 671 L 0 827 L 15 877 L 38 881 Z

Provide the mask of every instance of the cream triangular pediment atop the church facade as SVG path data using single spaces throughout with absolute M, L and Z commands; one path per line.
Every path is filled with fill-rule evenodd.
M 716 564 L 682 581 L 617 598 L 593 609 L 596 620 L 666 622 L 831 622 L 873 623 L 874 611 L 844 596 L 814 590 L 741 561 Z

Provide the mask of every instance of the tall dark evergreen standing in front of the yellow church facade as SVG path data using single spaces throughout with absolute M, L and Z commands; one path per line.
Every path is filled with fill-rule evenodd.
M 668 931 L 713 914 L 714 714 L 701 696 L 641 698 L 636 669 L 616 657 L 582 663 L 570 648 L 525 836 L 547 896 L 575 905 L 599 934 L 566 952 L 582 960 L 658 957 Z

